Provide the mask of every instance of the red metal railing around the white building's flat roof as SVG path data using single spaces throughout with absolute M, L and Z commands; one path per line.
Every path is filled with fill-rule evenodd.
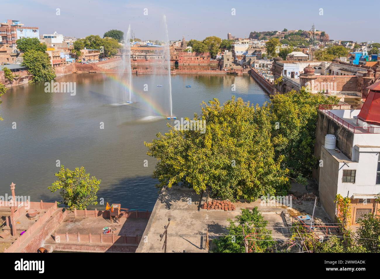
M 342 118 L 336 116 L 330 110 L 360 110 L 363 105 L 319 105 L 318 110 L 326 114 L 329 118 L 337 122 L 338 124 L 345 127 L 347 130 L 350 130 L 353 133 L 361 134 L 377 134 L 380 133 L 380 127 L 361 127 L 354 126 L 347 121 L 344 121 Z

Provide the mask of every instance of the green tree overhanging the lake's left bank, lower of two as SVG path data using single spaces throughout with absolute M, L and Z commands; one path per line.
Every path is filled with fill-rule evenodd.
M 49 55 L 45 52 L 28 50 L 24 53 L 24 61 L 21 65 L 27 67 L 33 75 L 33 82 L 47 82 L 55 78 Z

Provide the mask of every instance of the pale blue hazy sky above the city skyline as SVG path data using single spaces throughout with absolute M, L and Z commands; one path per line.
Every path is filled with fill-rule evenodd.
M 144 14 L 145 12 L 145 14 Z M 251 31 L 310 30 L 312 25 L 342 41 L 380 42 L 380 1 L 225 1 L 225 0 L 1 0 L 0 22 L 20 20 L 40 34 L 57 31 L 82 38 L 111 29 L 136 38 L 170 40 L 207 36 L 245 38 Z

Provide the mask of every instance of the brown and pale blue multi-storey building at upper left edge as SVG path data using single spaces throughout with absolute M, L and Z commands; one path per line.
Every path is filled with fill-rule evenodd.
M 0 23 L 0 36 L 2 44 L 8 44 L 12 47 L 16 46 L 16 41 L 23 38 L 40 39 L 38 27 L 24 27 L 19 20 L 8 19 Z

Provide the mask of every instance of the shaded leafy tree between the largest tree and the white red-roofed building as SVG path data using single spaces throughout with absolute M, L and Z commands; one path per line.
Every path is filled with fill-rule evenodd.
M 305 88 L 299 92 L 276 94 L 268 103 L 276 154 L 284 158 L 282 168 L 290 169 L 293 178 L 310 178 L 316 166 L 317 158 L 313 154 L 318 105 L 337 103 L 335 96 L 326 98 L 307 92 Z

